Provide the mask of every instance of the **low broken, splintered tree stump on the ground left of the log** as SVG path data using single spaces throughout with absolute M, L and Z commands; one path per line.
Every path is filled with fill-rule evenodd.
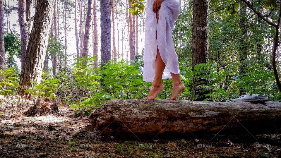
M 59 111 L 59 99 L 51 100 L 48 97 L 37 98 L 35 104 L 28 109 L 24 114 L 27 116 L 40 116 L 46 114 L 56 114 Z

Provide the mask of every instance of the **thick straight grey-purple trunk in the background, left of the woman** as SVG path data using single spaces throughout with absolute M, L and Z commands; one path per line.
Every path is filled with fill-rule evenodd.
M 111 59 L 111 20 L 110 0 L 100 2 L 100 28 L 101 28 L 101 61 L 108 62 Z

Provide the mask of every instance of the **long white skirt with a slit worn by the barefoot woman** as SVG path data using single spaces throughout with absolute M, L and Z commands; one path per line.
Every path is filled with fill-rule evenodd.
M 180 0 L 163 0 L 158 23 L 156 13 L 153 12 L 153 1 L 147 0 L 145 18 L 146 36 L 143 56 L 143 80 L 147 82 L 153 82 L 154 79 L 157 46 L 166 65 L 162 79 L 172 78 L 170 72 L 179 74 L 179 62 L 174 48 L 172 30 L 179 16 Z

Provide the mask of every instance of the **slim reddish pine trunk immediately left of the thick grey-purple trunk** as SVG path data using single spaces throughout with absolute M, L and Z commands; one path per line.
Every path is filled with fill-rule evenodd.
M 97 4 L 96 4 L 96 0 L 93 0 L 94 4 L 93 4 L 93 55 L 97 57 L 97 59 L 95 60 L 95 65 L 94 68 L 97 68 L 98 66 L 98 56 L 97 56 L 97 42 L 98 42 L 98 36 L 97 36 Z

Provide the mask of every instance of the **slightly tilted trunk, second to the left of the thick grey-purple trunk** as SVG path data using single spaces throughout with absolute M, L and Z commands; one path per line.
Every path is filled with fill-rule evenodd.
M 90 23 L 92 20 L 92 0 L 88 0 L 87 18 L 85 25 L 85 35 L 83 40 L 83 56 L 89 55 L 89 40 L 90 40 Z

